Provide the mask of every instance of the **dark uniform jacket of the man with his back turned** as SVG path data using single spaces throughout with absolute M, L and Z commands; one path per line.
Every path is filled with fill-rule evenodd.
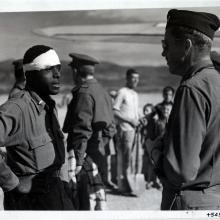
M 67 150 L 74 149 L 77 165 L 82 165 L 85 152 L 104 154 L 103 136 L 112 137 L 115 127 L 111 98 L 96 79 L 73 90 L 63 131 L 68 133 Z

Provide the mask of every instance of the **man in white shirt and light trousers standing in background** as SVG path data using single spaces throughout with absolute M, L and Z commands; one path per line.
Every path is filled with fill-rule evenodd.
M 128 69 L 126 73 L 126 86 L 118 91 L 113 106 L 115 117 L 118 120 L 117 132 L 117 163 L 118 188 L 125 195 L 133 195 L 128 181 L 131 169 L 131 151 L 134 141 L 135 129 L 138 120 L 138 94 L 135 91 L 139 82 L 139 73 Z

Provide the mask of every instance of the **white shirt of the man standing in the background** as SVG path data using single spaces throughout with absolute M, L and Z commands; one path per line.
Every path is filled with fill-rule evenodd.
M 138 120 L 138 94 L 128 87 L 123 87 L 118 91 L 113 109 L 118 110 L 125 117 Z M 123 131 L 134 130 L 129 123 L 119 121 Z

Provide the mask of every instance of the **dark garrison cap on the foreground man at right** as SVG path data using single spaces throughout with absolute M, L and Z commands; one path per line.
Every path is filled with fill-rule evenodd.
M 213 39 L 220 21 L 211 13 L 171 9 L 167 14 L 166 29 L 172 26 L 189 27 Z

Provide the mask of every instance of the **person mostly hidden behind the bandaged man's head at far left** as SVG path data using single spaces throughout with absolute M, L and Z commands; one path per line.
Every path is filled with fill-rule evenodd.
M 23 71 L 23 60 L 18 59 L 12 62 L 14 66 L 14 76 L 15 83 L 9 92 L 9 99 L 13 97 L 16 93 L 20 92 L 25 88 L 25 75 Z

